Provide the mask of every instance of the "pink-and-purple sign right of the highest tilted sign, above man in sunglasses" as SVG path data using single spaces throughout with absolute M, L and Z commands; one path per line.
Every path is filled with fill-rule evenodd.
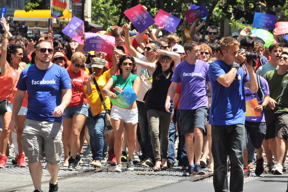
M 167 13 L 166 11 L 163 11 L 162 9 L 159 9 L 156 17 L 154 18 L 154 21 L 156 25 L 160 27 L 165 25 L 164 29 L 166 31 L 174 33 L 181 19 L 171 15 L 170 13 Z

